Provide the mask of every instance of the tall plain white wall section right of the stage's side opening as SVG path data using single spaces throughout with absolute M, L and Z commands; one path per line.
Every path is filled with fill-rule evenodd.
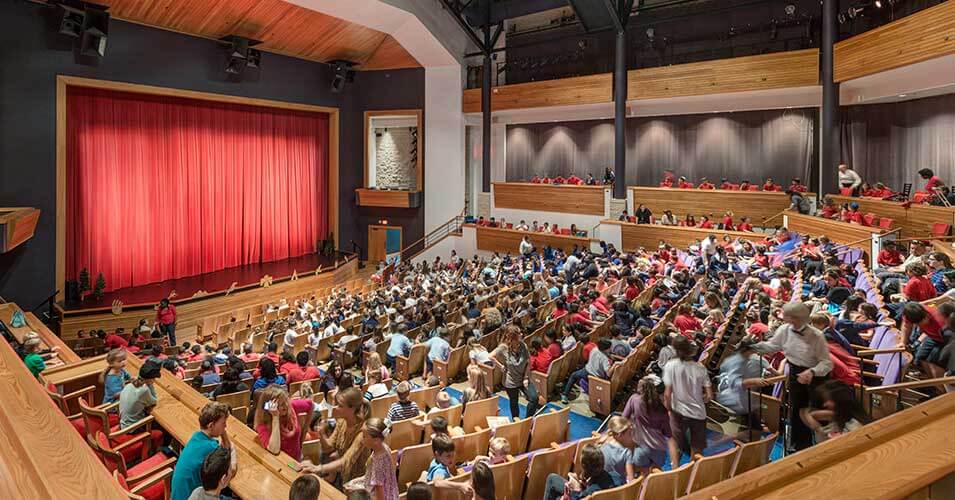
M 424 231 L 464 208 L 464 113 L 461 67 L 425 68 Z

